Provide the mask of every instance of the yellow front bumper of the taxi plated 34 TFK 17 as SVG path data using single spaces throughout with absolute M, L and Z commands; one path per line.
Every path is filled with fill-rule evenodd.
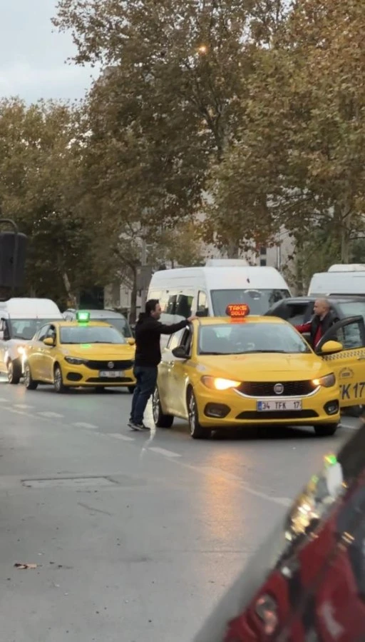
M 243 425 L 272 425 L 314 426 L 323 423 L 339 423 L 339 388 L 317 388 L 308 396 L 278 397 L 248 397 L 237 391 L 210 391 L 200 383 L 195 387 L 195 396 L 202 426 L 214 428 Z M 298 409 L 283 409 L 259 411 L 257 401 L 284 403 L 297 401 Z M 285 403 L 284 403 L 285 405 Z M 302 406 L 302 407 L 300 407 Z

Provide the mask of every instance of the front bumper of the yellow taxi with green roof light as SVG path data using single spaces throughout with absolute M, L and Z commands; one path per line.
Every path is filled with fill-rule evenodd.
M 68 387 L 97 388 L 98 386 L 108 386 L 108 388 L 120 388 L 123 386 L 135 386 L 135 377 L 133 368 L 123 370 L 123 376 L 115 376 L 115 372 L 110 371 L 109 376 L 100 376 L 99 368 L 88 368 L 84 365 L 73 365 L 63 362 L 62 366 L 63 385 Z M 103 368 L 106 371 L 106 368 Z

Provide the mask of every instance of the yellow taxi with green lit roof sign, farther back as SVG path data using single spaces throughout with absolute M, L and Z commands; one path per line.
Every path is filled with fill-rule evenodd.
M 24 354 L 26 388 L 51 383 L 58 393 L 79 386 L 124 386 L 133 392 L 134 339 L 89 318 L 78 312 L 76 321 L 53 321 L 38 330 Z

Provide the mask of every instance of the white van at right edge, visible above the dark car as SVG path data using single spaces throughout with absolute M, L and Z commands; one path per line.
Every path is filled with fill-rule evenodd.
M 338 294 L 365 297 L 365 266 L 334 265 L 328 272 L 317 272 L 312 276 L 308 294 L 310 296 Z

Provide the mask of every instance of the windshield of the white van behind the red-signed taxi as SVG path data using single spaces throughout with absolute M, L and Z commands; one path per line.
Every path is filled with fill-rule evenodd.
M 272 305 L 287 299 L 289 290 L 277 289 L 245 289 L 245 290 L 211 290 L 214 316 L 226 316 L 230 304 L 248 304 L 250 314 L 265 314 Z

